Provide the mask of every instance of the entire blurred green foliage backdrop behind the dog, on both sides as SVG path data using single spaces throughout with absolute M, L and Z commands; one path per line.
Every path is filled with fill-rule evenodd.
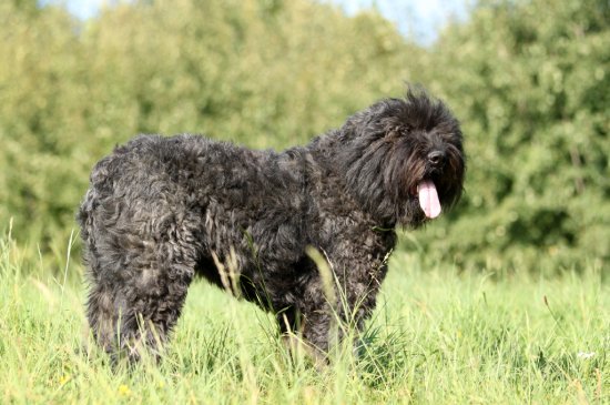
M 35 4 L 0 2 L 0 223 L 43 256 L 94 162 L 139 132 L 281 149 L 411 81 L 462 121 L 469 170 L 409 249 L 491 270 L 610 257 L 604 0 L 482 1 L 429 49 L 306 0 L 140 1 L 85 22 Z

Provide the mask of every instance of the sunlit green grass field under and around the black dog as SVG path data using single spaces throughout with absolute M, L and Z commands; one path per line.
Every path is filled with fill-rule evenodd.
M 113 371 L 82 269 L 51 277 L 0 249 L 1 404 L 610 403 L 610 285 L 593 264 L 494 277 L 396 252 L 364 353 L 339 347 L 322 371 L 291 358 L 267 314 L 196 282 L 162 364 Z

